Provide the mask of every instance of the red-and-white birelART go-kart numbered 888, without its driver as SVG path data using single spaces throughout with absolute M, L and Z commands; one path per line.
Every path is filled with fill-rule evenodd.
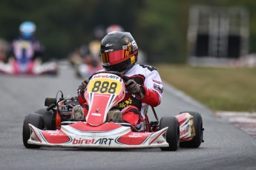
M 175 117 L 163 117 L 160 121 L 152 107 L 156 121 L 145 115 L 139 128 L 125 121 L 109 121 L 111 108 L 125 97 L 128 77 L 119 72 L 96 72 L 89 78 L 85 99 L 88 115 L 85 119 L 72 118 L 77 97 L 46 98 L 46 109 L 25 116 L 23 143 L 28 149 L 41 146 L 81 148 L 151 148 L 176 151 L 178 147 L 197 148 L 203 142 L 203 120 L 197 112 L 182 112 Z

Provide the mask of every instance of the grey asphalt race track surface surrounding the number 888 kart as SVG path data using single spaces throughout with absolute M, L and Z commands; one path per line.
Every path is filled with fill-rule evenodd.
M 0 169 L 256 169 L 255 138 L 167 85 L 163 102 L 156 108 L 158 116 L 200 112 L 205 143 L 198 149 L 162 152 L 160 149 L 24 148 L 24 115 L 43 108 L 45 98 L 55 97 L 59 89 L 65 95 L 76 95 L 80 81 L 68 66 L 62 67 L 57 77 L 0 75 Z

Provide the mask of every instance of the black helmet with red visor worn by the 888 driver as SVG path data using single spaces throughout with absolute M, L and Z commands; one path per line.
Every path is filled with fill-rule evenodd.
M 102 67 L 108 71 L 125 72 L 137 62 L 138 47 L 131 33 L 114 31 L 102 39 Z

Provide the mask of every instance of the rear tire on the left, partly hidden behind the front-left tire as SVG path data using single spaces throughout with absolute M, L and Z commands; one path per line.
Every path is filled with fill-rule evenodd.
M 53 111 L 47 111 L 47 109 L 38 109 L 35 113 L 42 115 L 47 130 L 56 130 L 55 119 L 53 118 Z

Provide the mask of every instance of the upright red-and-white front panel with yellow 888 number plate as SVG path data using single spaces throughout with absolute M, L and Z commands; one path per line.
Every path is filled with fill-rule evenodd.
M 125 97 L 125 84 L 117 75 L 93 75 L 85 91 L 89 110 L 86 120 L 92 126 L 105 123 L 108 111 Z

